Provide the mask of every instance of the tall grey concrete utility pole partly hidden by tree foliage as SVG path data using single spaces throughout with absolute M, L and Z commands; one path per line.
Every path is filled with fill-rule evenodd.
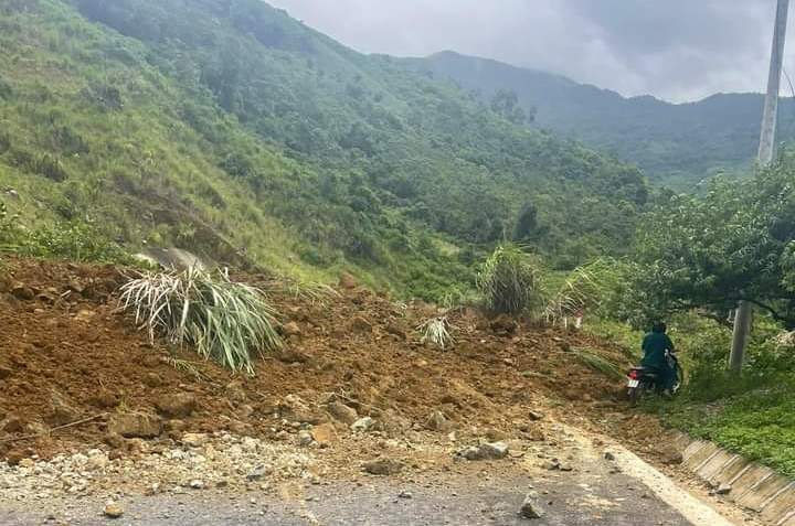
M 786 40 L 789 0 L 778 0 L 776 8 L 775 29 L 773 31 L 773 50 L 771 52 L 770 76 L 767 77 L 767 95 L 765 96 L 764 115 L 762 116 L 762 133 L 760 135 L 759 164 L 766 167 L 773 162 L 775 153 L 776 121 L 778 117 L 778 92 L 784 61 L 784 42 Z M 732 337 L 729 367 L 735 373 L 742 369 L 745 347 L 753 316 L 753 305 L 741 301 L 734 316 L 734 334 Z

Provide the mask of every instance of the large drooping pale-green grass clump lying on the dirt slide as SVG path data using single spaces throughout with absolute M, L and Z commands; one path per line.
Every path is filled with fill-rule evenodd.
M 121 287 L 121 304 L 152 341 L 161 335 L 192 345 L 235 372 L 253 374 L 252 356 L 282 345 L 276 311 L 263 292 L 222 270 L 145 273 Z

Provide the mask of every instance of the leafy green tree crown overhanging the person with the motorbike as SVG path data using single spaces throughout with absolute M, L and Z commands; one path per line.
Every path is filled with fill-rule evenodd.
M 639 235 L 629 310 L 710 313 L 745 300 L 795 328 L 795 157 L 703 196 L 671 197 Z

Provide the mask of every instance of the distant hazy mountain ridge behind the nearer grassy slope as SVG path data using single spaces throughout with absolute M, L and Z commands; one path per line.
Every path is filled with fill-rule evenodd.
M 534 112 L 532 126 L 581 140 L 637 165 L 655 182 L 687 190 L 719 171 L 752 165 L 764 98 L 719 94 L 698 103 L 626 98 L 550 73 L 443 52 L 409 58 L 412 67 L 449 78 L 489 101 L 500 90 Z M 795 104 L 782 100 L 781 133 L 795 137 Z

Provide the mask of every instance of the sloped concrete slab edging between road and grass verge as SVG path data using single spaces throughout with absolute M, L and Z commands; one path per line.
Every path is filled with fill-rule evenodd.
M 795 526 L 795 481 L 712 442 L 674 432 L 669 440 L 682 454 L 682 466 L 713 487 L 728 485 L 728 501 L 756 512 L 774 526 Z

